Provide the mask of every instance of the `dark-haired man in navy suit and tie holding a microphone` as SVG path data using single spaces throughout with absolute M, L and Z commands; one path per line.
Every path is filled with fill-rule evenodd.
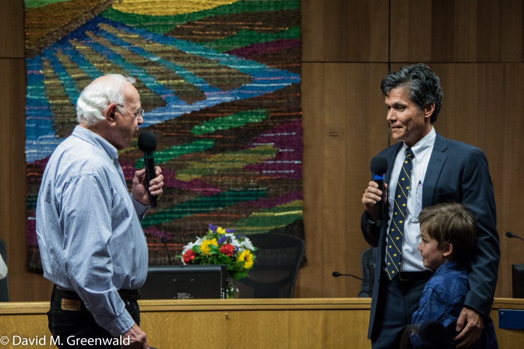
M 388 163 L 384 229 L 376 224 L 376 204 L 383 195 L 378 184 L 369 182 L 362 197 L 362 232 L 370 245 L 378 246 L 368 338 L 373 349 L 399 347 L 403 329 L 410 323 L 432 275 L 417 251 L 418 215 L 424 207 L 453 201 L 474 212 L 479 228 L 468 293 L 454 339 L 457 348 L 468 347 L 478 340 L 484 319 L 489 317 L 500 260 L 495 197 L 486 156 L 482 150 L 446 139 L 434 130 L 443 93 L 439 77 L 427 65 L 419 63 L 389 73 L 380 87 L 386 97 L 392 138 L 402 142 L 379 154 Z M 405 167 L 408 162 L 411 164 Z M 405 179 L 410 182 L 400 184 L 399 189 L 404 189 L 406 201 L 399 205 L 397 183 Z M 404 205 L 401 210 L 399 206 Z M 401 224 L 396 221 L 399 216 Z M 400 235 L 394 238 L 395 230 Z M 394 258 L 399 258 L 398 262 Z

